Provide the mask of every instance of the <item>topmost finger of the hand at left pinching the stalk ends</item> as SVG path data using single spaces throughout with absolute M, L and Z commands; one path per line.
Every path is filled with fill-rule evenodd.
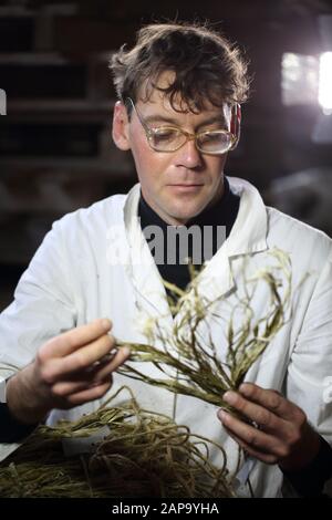
M 95 320 L 86 325 L 81 325 L 71 331 L 53 337 L 40 349 L 40 356 L 44 360 L 50 357 L 63 357 L 81 349 L 100 336 L 104 335 L 112 327 L 108 319 Z

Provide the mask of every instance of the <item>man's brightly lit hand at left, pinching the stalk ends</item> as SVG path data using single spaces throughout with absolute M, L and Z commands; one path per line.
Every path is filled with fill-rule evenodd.
M 114 337 L 107 334 L 111 327 L 110 320 L 95 320 L 42 345 L 33 363 L 8 382 L 11 414 L 34 424 L 52 408 L 101 398 L 112 386 L 112 373 L 129 356 L 127 347 L 115 351 Z

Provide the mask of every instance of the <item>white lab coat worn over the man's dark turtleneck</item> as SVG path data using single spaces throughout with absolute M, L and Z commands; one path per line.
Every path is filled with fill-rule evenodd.
M 323 396 L 324 384 L 332 376 L 332 241 L 321 231 L 267 208 L 248 181 L 231 177 L 229 181 L 240 195 L 238 217 L 228 239 L 199 274 L 200 293 L 209 299 L 225 294 L 231 303 L 241 290 L 237 273 L 243 256 L 250 253 L 249 268 L 255 271 L 270 262 L 269 250 L 273 247 L 290 254 L 292 319 L 251 366 L 246 381 L 282 392 L 305 410 L 331 443 L 332 404 Z M 30 363 L 50 337 L 97 318 L 110 318 L 113 334 L 122 341 L 146 340 L 139 325 L 144 313 L 158 315 L 165 334 L 172 334 L 178 316 L 173 319 L 170 314 L 158 269 L 143 237 L 138 199 L 136 185 L 127 196 L 112 196 L 53 225 L 22 275 L 13 303 L 0 316 L 0 377 L 8 378 Z M 310 277 L 301 284 L 304 273 Z M 267 302 L 262 290 L 253 301 L 255 311 L 263 312 Z M 207 327 L 220 347 L 220 358 L 226 355 L 227 313 L 222 312 L 226 320 L 211 318 Z M 160 377 L 149 364 L 142 364 L 142 370 Z M 169 416 L 174 413 L 174 394 L 118 374 L 111 393 L 124 383 L 145 408 Z M 54 410 L 49 422 L 74 419 L 98 405 L 96 401 L 72 410 Z M 194 434 L 221 443 L 234 471 L 238 448 L 216 412 L 217 407 L 194 397 L 177 396 L 176 422 L 188 425 Z M 0 459 L 15 447 L 0 446 Z M 251 461 L 249 467 L 256 496 L 280 495 L 282 475 L 277 466 Z M 247 489 L 241 492 L 246 495 Z

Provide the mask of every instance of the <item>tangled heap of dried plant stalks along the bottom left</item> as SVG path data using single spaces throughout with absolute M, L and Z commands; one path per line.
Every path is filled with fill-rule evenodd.
M 122 387 L 118 392 L 124 391 Z M 128 389 L 128 388 L 127 388 Z M 232 497 L 222 448 L 190 435 L 162 414 L 143 410 L 135 398 L 53 428 L 40 426 L 0 465 L 1 497 Z M 110 435 L 91 454 L 65 458 L 64 438 Z M 209 461 L 218 448 L 221 468 Z

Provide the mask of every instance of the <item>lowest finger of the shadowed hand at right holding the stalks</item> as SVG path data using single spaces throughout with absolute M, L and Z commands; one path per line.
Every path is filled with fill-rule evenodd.
M 270 455 L 277 455 L 278 451 L 279 455 L 279 441 L 276 437 L 237 419 L 225 410 L 219 410 L 218 417 L 232 435 L 236 435 L 241 441 L 250 446 L 251 449 Z

